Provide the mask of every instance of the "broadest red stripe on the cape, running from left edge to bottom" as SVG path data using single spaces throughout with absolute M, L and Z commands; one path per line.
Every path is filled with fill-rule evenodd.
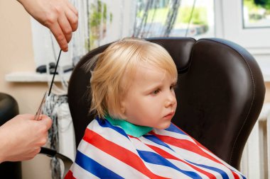
M 163 178 L 149 171 L 139 156 L 117 144 L 114 144 L 113 142 L 110 142 L 107 139 L 104 139 L 104 137 L 90 129 L 85 130 L 85 136 L 83 139 L 105 153 L 119 159 L 119 161 L 126 163 L 132 168 L 135 168 L 137 171 L 148 176 L 148 178 Z

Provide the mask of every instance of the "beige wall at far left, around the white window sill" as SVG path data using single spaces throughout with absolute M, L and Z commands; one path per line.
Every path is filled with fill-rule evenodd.
M 20 113 L 35 113 L 47 83 L 8 83 L 4 79 L 12 71 L 35 71 L 30 16 L 17 1 L 0 0 L 0 23 L 0 91 L 18 101 Z M 50 178 L 46 158 L 23 162 L 23 178 Z

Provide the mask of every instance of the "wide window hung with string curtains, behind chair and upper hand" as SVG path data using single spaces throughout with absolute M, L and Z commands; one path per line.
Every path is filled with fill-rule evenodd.
M 70 0 L 79 27 L 62 53 L 60 67 L 77 64 L 86 52 L 122 37 L 215 36 L 213 0 Z M 50 31 L 32 21 L 37 67 L 55 62 L 60 48 Z

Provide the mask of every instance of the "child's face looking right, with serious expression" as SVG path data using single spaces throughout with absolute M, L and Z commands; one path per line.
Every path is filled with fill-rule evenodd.
M 124 116 L 134 125 L 166 129 L 177 106 L 176 79 L 166 71 L 143 65 L 139 67 L 126 96 L 121 100 Z

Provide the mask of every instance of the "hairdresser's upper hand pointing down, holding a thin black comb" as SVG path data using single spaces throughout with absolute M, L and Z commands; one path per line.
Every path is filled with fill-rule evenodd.
M 18 0 L 28 13 L 52 31 L 60 48 L 67 52 L 72 32 L 77 30 L 78 13 L 68 0 Z

